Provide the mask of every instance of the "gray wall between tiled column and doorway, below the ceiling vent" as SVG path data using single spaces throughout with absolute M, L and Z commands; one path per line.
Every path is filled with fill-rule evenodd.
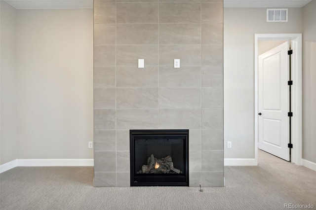
M 285 23 L 267 23 L 266 11 L 224 9 L 225 158 L 254 158 L 254 34 L 302 33 L 302 8 L 289 8 Z

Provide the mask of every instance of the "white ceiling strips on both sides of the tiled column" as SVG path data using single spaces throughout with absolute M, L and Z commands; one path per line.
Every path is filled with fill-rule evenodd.
M 16 9 L 93 8 L 93 0 L 5 0 Z M 224 0 L 224 7 L 303 7 L 311 0 Z

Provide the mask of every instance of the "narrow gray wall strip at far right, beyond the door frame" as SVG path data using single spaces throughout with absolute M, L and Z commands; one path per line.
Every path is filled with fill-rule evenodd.
M 303 158 L 316 163 L 316 1 L 303 7 Z

